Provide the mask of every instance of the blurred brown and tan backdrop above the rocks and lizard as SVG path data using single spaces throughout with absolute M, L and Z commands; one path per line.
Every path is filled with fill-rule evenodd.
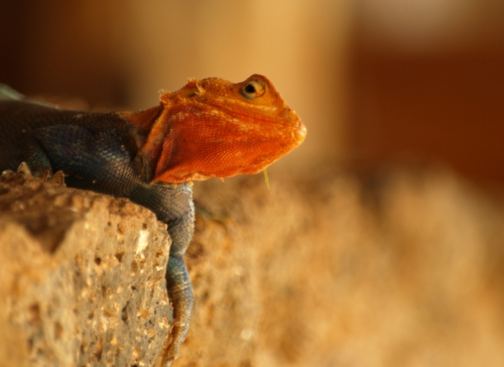
M 265 74 L 309 131 L 272 170 L 436 162 L 500 185 L 503 15 L 500 0 L 0 0 L 0 81 L 140 109 L 189 77 Z

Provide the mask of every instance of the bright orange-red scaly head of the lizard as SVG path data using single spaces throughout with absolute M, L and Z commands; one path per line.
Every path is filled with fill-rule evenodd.
M 142 152 L 153 181 L 181 183 L 255 174 L 301 144 L 306 128 L 267 78 L 189 80 L 162 92 L 162 112 Z

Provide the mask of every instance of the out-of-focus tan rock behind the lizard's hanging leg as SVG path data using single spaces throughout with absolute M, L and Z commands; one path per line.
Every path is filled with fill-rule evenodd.
M 270 184 L 195 185 L 221 221 L 174 366 L 504 366 L 502 201 L 437 169 Z

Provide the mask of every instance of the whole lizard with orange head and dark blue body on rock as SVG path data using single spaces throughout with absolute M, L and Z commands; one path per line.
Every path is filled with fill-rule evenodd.
M 298 146 L 306 127 L 274 85 L 254 74 L 241 83 L 189 79 L 141 111 L 59 109 L 0 85 L 0 172 L 41 179 L 151 209 L 172 240 L 166 282 L 174 323 L 163 351 L 180 354 L 193 310 L 183 260 L 194 232 L 193 181 L 255 174 Z

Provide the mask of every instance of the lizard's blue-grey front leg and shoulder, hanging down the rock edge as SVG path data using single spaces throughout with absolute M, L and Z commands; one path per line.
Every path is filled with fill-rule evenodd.
M 90 131 L 75 125 L 57 125 L 36 132 L 48 153 L 52 169 L 62 169 L 68 186 L 130 198 L 151 209 L 167 224 L 172 240 L 167 264 L 167 289 L 174 308 L 174 326 L 163 361 L 176 359 L 186 339 L 193 310 L 191 286 L 183 254 L 193 237 L 193 189 L 188 183 L 148 183 L 135 172 L 132 155 L 116 130 Z

